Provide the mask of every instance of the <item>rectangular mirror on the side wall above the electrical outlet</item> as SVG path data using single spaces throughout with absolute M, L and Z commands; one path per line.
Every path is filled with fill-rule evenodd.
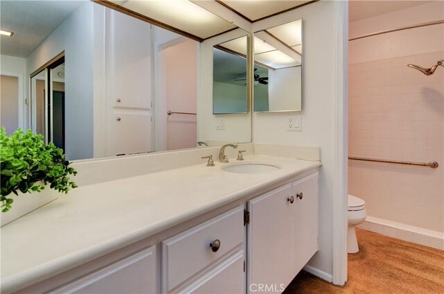
M 302 110 L 302 19 L 255 33 L 254 111 Z

